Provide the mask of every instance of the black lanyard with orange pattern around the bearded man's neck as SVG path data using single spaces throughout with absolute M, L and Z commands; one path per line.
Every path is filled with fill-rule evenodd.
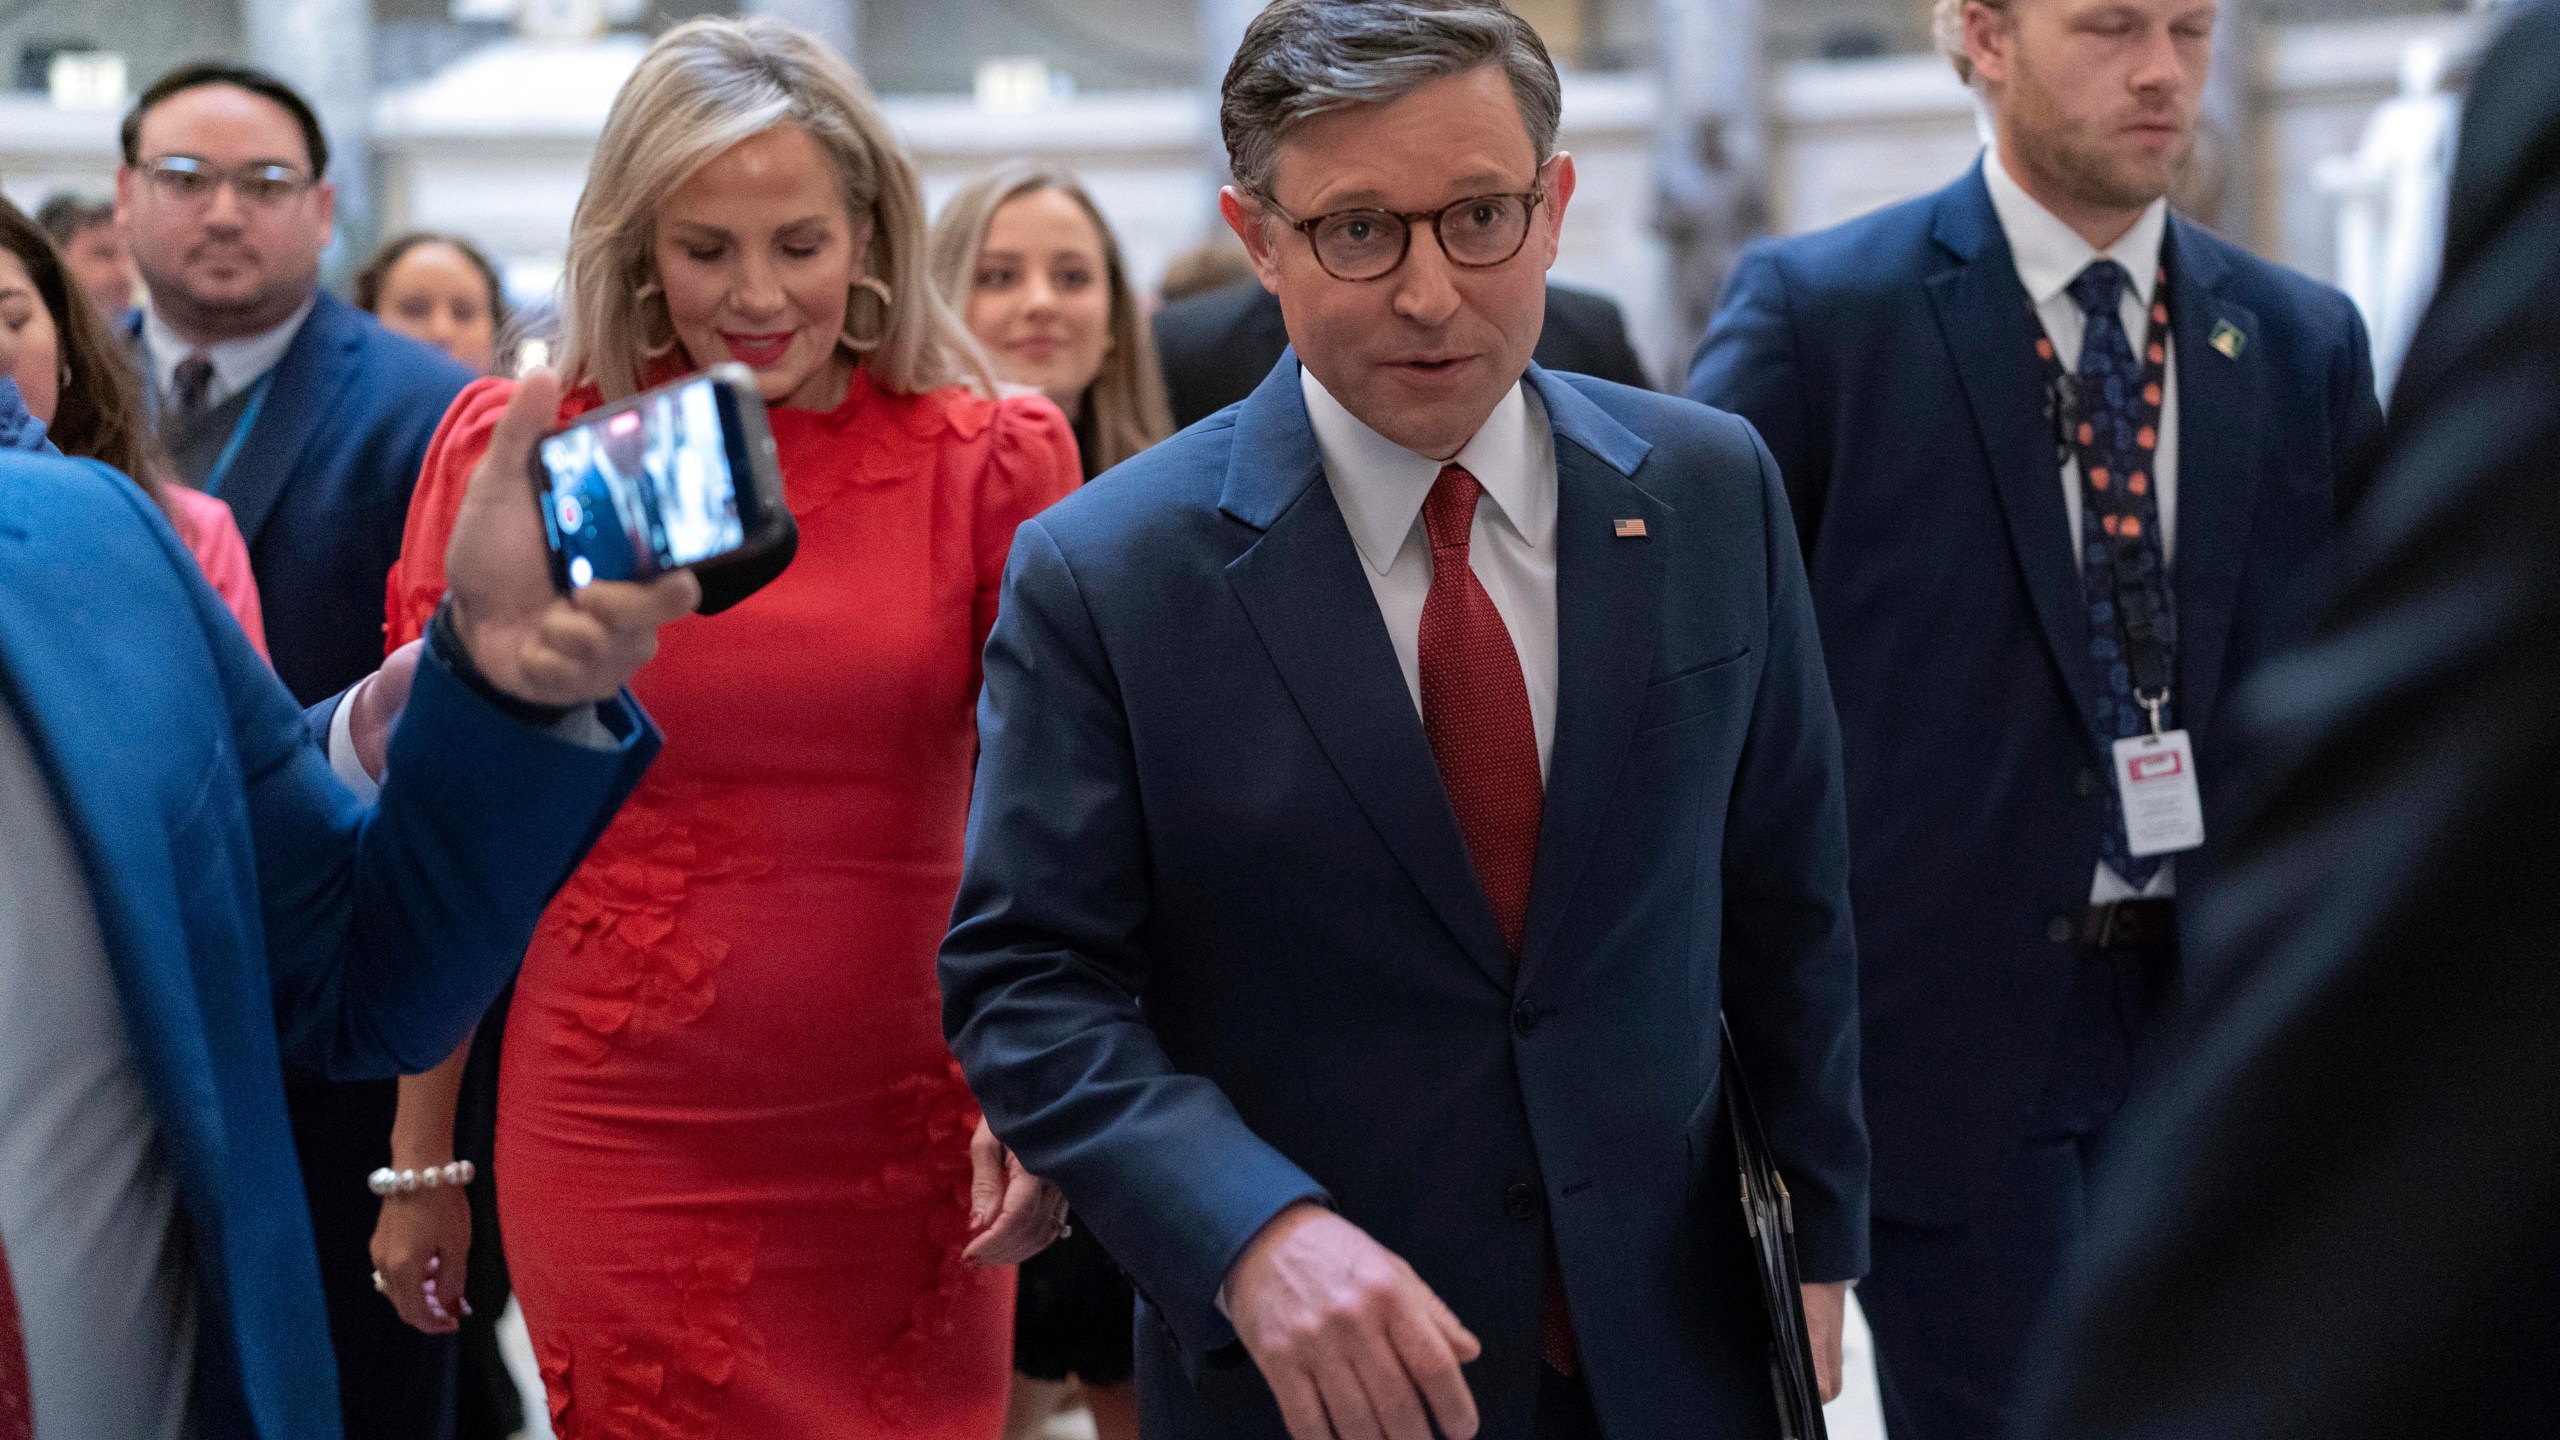
M 2132 697 L 2150 710 L 2153 728 L 2161 725 L 2161 707 L 2168 702 L 2168 671 L 2179 648 L 2179 623 L 2168 602 L 2168 546 L 2166 536 L 2150 536 L 2161 546 L 2158 582 L 2143 579 L 2143 518 L 2140 495 L 2153 495 L 2158 518 L 2158 492 L 2153 464 L 2161 441 L 2161 402 L 2168 387 L 2168 266 L 2161 266 L 2150 287 L 2150 325 L 2143 328 L 2143 389 L 2135 395 L 2135 471 L 2109 474 L 2112 456 L 2097 448 L 2094 425 L 2086 420 L 2079 377 L 2063 369 L 2053 336 L 2043 318 L 2035 320 L 2035 356 L 2045 364 L 2045 415 L 2053 420 L 2056 466 L 2076 459 L 2081 466 L 2081 505 L 2094 507 L 2107 541 L 2107 564 L 2115 589 L 2115 625 L 2125 643 L 2125 664 L 2132 671 Z M 2130 343 L 2132 336 L 2125 336 Z M 2086 341 L 2084 341 L 2086 346 Z M 2143 443 L 2148 436 L 2150 443 Z M 2086 530 L 2084 530 L 2086 533 Z M 2084 536 L 2081 533 L 2081 536 Z M 2071 536 L 2074 551 L 2081 536 Z

